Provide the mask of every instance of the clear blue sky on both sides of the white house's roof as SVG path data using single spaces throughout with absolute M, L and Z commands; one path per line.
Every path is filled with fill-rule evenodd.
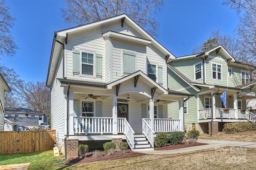
M 16 21 L 11 30 L 19 49 L 1 63 L 27 81 L 46 81 L 55 31 L 69 28 L 60 14 L 62 0 L 6 0 Z M 212 30 L 232 34 L 238 16 L 222 0 L 165 0 L 156 16 L 160 24 L 156 40 L 176 57 L 190 55 L 194 46 L 204 42 Z

